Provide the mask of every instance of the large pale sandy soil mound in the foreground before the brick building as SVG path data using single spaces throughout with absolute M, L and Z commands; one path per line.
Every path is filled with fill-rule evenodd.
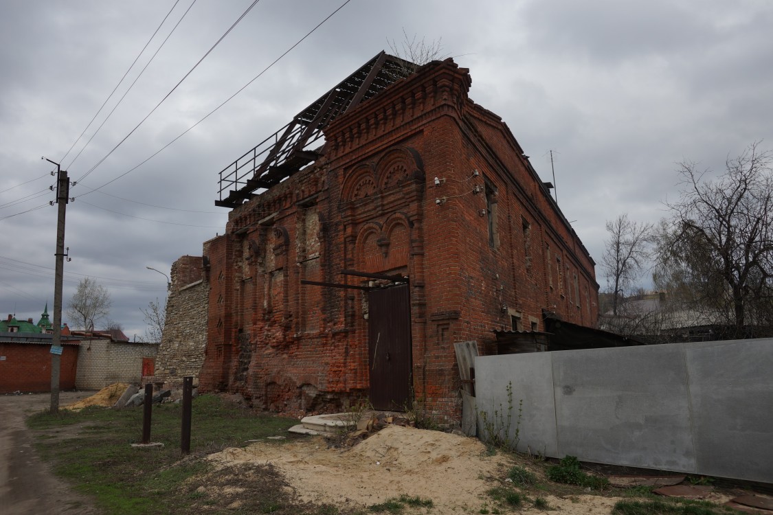
M 511 456 L 490 455 L 478 439 L 400 425 L 388 425 L 350 449 L 328 448 L 325 439 L 315 437 L 280 445 L 257 442 L 209 459 L 223 466 L 271 464 L 305 502 L 364 508 L 406 494 L 431 499 L 434 513 L 478 513 L 490 500 L 487 492 L 502 484 L 514 463 Z M 607 515 L 619 500 L 545 497 L 551 507 L 577 515 Z

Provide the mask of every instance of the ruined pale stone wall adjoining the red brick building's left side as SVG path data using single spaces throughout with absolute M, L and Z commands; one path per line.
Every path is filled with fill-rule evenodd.
M 194 385 L 198 384 L 206 349 L 208 301 L 202 257 L 182 256 L 172 264 L 172 288 L 152 382 L 181 388 L 182 378 L 192 376 Z

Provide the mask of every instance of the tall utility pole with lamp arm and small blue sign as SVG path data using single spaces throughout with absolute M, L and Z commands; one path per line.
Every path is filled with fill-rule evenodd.
M 59 204 L 59 214 L 56 217 L 56 275 L 53 286 L 53 341 L 51 344 L 51 413 L 59 412 L 59 378 L 62 356 L 62 280 L 64 277 L 64 217 L 67 211 L 67 202 L 70 202 L 70 179 L 67 171 L 62 170 L 59 163 L 50 159 L 49 163 L 56 164 L 56 203 Z M 53 171 L 51 172 L 53 175 Z M 51 202 L 51 205 L 53 205 Z M 67 258 L 69 261 L 70 258 Z

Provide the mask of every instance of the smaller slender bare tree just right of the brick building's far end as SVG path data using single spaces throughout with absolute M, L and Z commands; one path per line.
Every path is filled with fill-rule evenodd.
M 652 224 L 632 222 L 628 214 L 607 222 L 609 239 L 601 256 L 601 266 L 611 288 L 612 314 L 617 316 L 621 299 L 642 274 L 649 259 Z

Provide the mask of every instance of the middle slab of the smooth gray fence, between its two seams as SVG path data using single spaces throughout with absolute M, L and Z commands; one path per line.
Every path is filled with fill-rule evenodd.
M 695 471 L 682 347 L 550 354 L 559 456 Z

